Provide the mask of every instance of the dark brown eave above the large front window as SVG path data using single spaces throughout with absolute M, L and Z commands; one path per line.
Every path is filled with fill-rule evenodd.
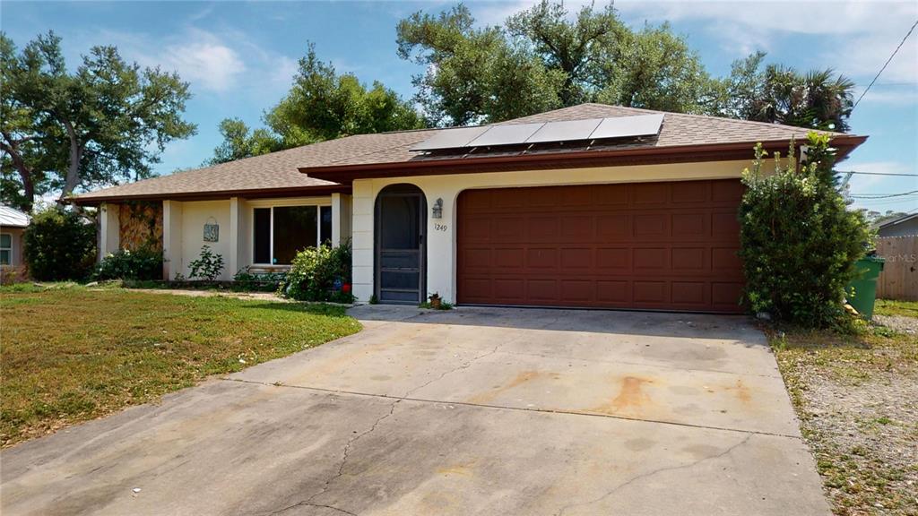
M 278 198 L 288 196 L 330 196 L 331 194 L 350 194 L 351 185 L 294 186 L 281 188 L 259 188 L 247 190 L 218 190 L 213 192 L 177 192 L 171 194 L 140 194 L 134 196 L 73 196 L 65 202 L 77 206 L 98 206 L 102 203 L 115 203 L 140 200 L 181 200 L 204 201 L 225 199 L 229 197 L 245 198 Z

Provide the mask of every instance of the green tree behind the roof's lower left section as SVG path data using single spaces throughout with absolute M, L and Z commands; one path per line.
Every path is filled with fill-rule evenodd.
M 266 128 L 250 129 L 239 118 L 220 123 L 223 142 L 208 163 L 224 163 L 342 136 L 418 129 L 423 120 L 395 91 L 379 82 L 367 87 L 353 73 L 321 62 L 314 45 L 299 60 L 293 86 L 263 116 Z

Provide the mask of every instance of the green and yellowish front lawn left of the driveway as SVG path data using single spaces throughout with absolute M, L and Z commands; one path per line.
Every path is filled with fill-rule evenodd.
M 79 286 L 0 289 L 9 446 L 360 330 L 343 308 Z

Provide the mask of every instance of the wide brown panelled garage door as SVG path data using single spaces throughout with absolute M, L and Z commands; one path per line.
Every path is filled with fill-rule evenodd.
M 741 311 L 738 180 L 466 190 L 457 301 Z

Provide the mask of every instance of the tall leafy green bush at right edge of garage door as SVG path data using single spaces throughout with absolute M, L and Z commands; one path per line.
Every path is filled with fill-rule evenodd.
M 845 285 L 870 233 L 863 214 L 848 210 L 838 192 L 829 137 L 810 133 L 800 166 L 792 142 L 785 162 L 776 153 L 774 174 L 763 174 L 764 157 L 757 145 L 754 166 L 743 174 L 745 301 L 778 320 L 845 326 Z

